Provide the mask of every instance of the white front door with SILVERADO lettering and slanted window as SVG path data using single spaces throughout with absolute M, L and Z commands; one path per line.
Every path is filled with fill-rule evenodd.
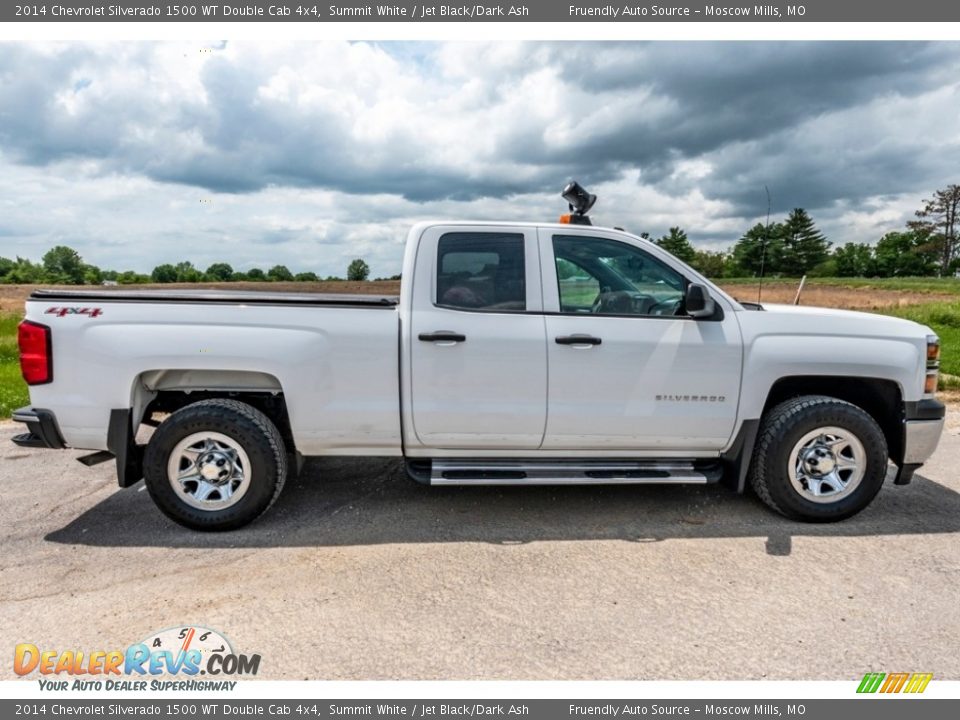
M 732 434 L 732 312 L 683 311 L 683 266 L 600 230 L 540 230 L 549 363 L 543 449 L 683 452 Z M 721 301 L 717 299 L 718 305 Z

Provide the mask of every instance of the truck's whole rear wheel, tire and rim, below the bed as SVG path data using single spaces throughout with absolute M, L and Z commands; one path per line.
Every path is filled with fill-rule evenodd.
M 173 413 L 144 455 L 157 507 L 193 530 L 234 530 L 269 508 L 287 477 L 276 426 L 236 400 L 203 400 Z

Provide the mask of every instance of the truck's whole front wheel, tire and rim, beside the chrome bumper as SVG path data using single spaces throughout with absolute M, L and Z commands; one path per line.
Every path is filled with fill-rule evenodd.
M 835 522 L 869 505 L 886 473 L 887 442 L 870 415 L 836 398 L 807 395 L 764 416 L 750 484 L 782 515 Z

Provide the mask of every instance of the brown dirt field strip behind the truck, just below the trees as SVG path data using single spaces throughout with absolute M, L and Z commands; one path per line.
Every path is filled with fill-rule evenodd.
M 723 283 L 720 283 L 724 287 Z M 0 285 L 0 312 L 20 312 L 27 296 L 39 285 Z M 226 290 L 260 290 L 263 292 L 320 292 L 320 293 L 361 293 L 373 295 L 399 295 L 399 280 L 378 280 L 370 282 L 315 282 L 315 283 L 173 283 L 168 285 L 124 285 L 105 288 L 102 290 L 130 290 L 130 289 L 226 289 Z M 64 289 L 76 290 L 73 286 L 64 286 Z M 88 290 L 93 288 L 86 288 Z M 724 289 L 739 300 L 756 301 L 756 285 L 729 285 Z M 770 303 L 792 303 L 796 295 L 796 287 L 783 284 L 766 285 L 763 288 L 763 300 Z M 819 305 L 822 307 L 845 308 L 849 310 L 883 310 L 887 308 L 907 307 L 929 302 L 956 302 L 957 296 L 950 294 L 910 292 L 904 290 L 883 290 L 878 288 L 849 288 L 833 285 L 808 285 L 803 290 L 801 303 L 803 305 Z

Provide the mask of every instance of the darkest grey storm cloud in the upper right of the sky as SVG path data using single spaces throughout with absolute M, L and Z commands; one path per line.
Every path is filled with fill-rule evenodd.
M 590 46 L 559 49 L 556 61 L 575 84 L 598 94 L 649 89 L 669 99 L 666 117 L 624 118 L 597 129 L 587 147 L 608 160 L 624 153 L 658 162 L 736 140 L 762 138 L 825 112 L 878 95 L 917 95 L 949 80 L 956 45 L 922 43 L 647 44 L 622 53 Z M 610 56 L 610 57 L 608 57 Z M 663 122 L 667 119 L 667 122 Z

